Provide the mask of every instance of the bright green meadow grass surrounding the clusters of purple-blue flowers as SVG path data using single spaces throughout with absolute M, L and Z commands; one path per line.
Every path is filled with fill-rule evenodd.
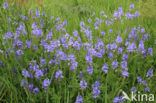
M 2 103 L 74 103 L 78 94 L 81 94 L 84 103 L 112 103 L 115 96 L 117 96 L 118 92 L 122 89 L 126 91 L 126 93 L 130 94 L 131 87 L 136 86 L 137 90 L 142 93 L 144 92 L 144 86 L 136 83 L 136 77 L 141 76 L 143 79 L 146 79 L 148 82 L 148 86 L 150 87 L 150 93 L 156 94 L 156 82 L 155 82 L 155 68 L 156 68 L 156 45 L 155 42 L 155 27 L 156 27 L 156 18 L 152 15 L 151 17 L 146 17 L 146 13 L 142 13 L 142 9 L 146 9 L 144 5 L 149 3 L 149 1 L 136 1 L 136 0 L 44 0 L 44 6 L 38 7 L 36 4 L 32 3 L 32 7 L 28 9 L 18 9 L 16 7 L 11 7 L 7 9 L 7 11 L 2 9 L 2 1 L 0 1 L 0 49 L 7 50 L 9 47 L 12 48 L 13 41 L 7 41 L 6 45 L 3 45 L 4 39 L 3 35 L 10 30 L 15 32 L 16 28 L 12 24 L 7 23 L 7 18 L 10 17 L 13 21 L 24 22 L 26 25 L 26 30 L 28 31 L 27 36 L 21 36 L 21 41 L 25 41 L 26 39 L 31 39 L 33 44 L 39 45 L 40 40 L 37 38 L 33 38 L 31 33 L 31 25 L 34 23 L 31 17 L 28 16 L 29 10 L 39 9 L 41 12 L 44 11 L 46 15 L 42 17 L 42 19 L 46 23 L 46 28 L 43 29 L 43 34 L 46 35 L 48 33 L 47 30 L 54 28 L 55 22 L 48 23 L 51 16 L 53 15 L 56 19 L 57 17 L 61 18 L 61 21 L 67 20 L 67 26 L 65 26 L 67 33 L 72 35 L 74 30 L 78 30 L 80 37 L 82 37 L 83 42 L 88 42 L 86 37 L 83 37 L 83 33 L 80 32 L 80 22 L 87 22 L 88 18 L 92 18 L 94 20 L 96 17 L 102 19 L 103 17 L 100 15 L 101 11 L 104 11 L 108 15 L 108 19 L 112 17 L 114 10 L 117 10 L 119 6 L 123 8 L 123 11 L 128 11 L 129 5 L 134 3 L 135 10 L 140 11 L 141 16 L 139 19 L 126 20 L 123 19 L 123 24 L 119 21 L 115 22 L 113 25 L 109 27 L 105 24 L 99 28 L 99 30 L 94 29 L 94 23 L 88 24 L 90 28 L 93 30 L 93 43 L 97 41 L 99 37 L 101 37 L 100 33 L 104 30 L 107 34 L 109 34 L 109 29 L 113 28 L 112 35 L 105 35 L 101 37 L 105 44 L 113 43 L 116 36 L 117 31 L 120 30 L 123 41 L 127 38 L 128 33 L 125 33 L 125 29 L 128 28 L 128 31 L 134 26 L 143 26 L 146 29 L 146 32 L 150 34 L 150 38 L 148 42 L 145 43 L 145 47 L 148 48 L 150 46 L 153 47 L 153 56 L 142 58 L 139 54 L 128 54 L 128 69 L 129 69 L 129 77 L 126 79 L 122 78 L 121 73 L 115 72 L 110 69 L 108 74 L 104 74 L 101 70 L 104 62 L 107 62 L 111 65 L 112 60 L 108 60 L 104 56 L 104 58 L 98 59 L 97 57 L 93 58 L 93 67 L 94 67 L 94 75 L 89 76 L 88 74 L 84 75 L 85 80 L 88 83 L 87 89 L 85 91 L 80 90 L 79 82 L 81 79 L 77 77 L 80 71 L 85 71 L 88 64 L 85 62 L 86 51 L 76 51 L 73 50 L 72 47 L 67 49 L 63 49 L 68 55 L 75 52 L 75 56 L 77 57 L 77 61 L 79 63 L 76 71 L 71 72 L 69 70 L 69 66 L 67 63 L 61 61 L 61 65 L 54 65 L 49 67 L 48 75 L 41 78 L 39 82 L 36 80 L 30 80 L 35 84 L 35 86 L 39 86 L 40 92 L 37 95 L 30 93 L 27 89 L 24 89 L 20 86 L 21 80 L 24 78 L 22 76 L 23 68 L 28 68 L 31 60 L 35 59 L 39 63 L 40 57 L 47 58 L 48 54 L 44 53 L 43 48 L 39 48 L 34 51 L 31 49 L 25 49 L 25 55 L 20 57 L 20 61 L 17 59 L 15 53 L 9 53 L 9 57 L 4 54 L 0 54 L 0 60 L 4 62 L 5 66 L 0 66 L 0 102 Z M 154 8 L 155 6 L 153 6 Z M 153 9 L 152 9 L 153 10 Z M 95 16 L 91 17 L 92 13 L 95 12 Z M 148 12 L 148 11 L 147 11 Z M 151 11 L 151 14 L 155 12 L 155 10 Z M 19 18 L 19 14 L 24 14 L 28 16 L 29 20 L 25 21 Z M 107 19 L 104 19 L 107 20 Z M 37 22 L 40 21 L 36 19 Z M 11 23 L 13 23 L 11 21 Z M 87 23 L 86 23 L 87 24 Z M 55 29 L 53 31 L 53 38 L 58 39 L 62 33 L 57 32 Z M 138 44 L 138 42 L 137 42 Z M 82 49 L 82 48 L 81 48 Z M 117 53 L 114 53 L 116 56 Z M 53 57 L 53 54 L 50 54 L 50 57 Z M 118 58 L 119 61 L 122 61 L 121 55 Z M 50 58 L 47 58 L 50 60 Z M 13 72 L 13 68 L 17 70 L 17 73 Z M 152 68 L 154 69 L 154 76 L 148 80 L 146 78 L 147 71 Z M 42 68 L 43 69 L 43 68 Z M 64 79 L 62 82 L 57 80 L 52 80 L 57 69 L 61 69 L 63 71 Z M 118 68 L 120 70 L 120 68 Z M 42 89 L 42 81 L 45 78 L 49 78 L 51 80 L 51 85 L 49 86 L 47 92 L 45 93 Z M 100 81 L 101 84 L 101 97 L 98 99 L 92 98 L 92 88 L 91 84 L 93 84 L 96 80 Z M 126 103 L 131 103 L 127 101 Z M 133 102 L 132 102 L 133 103 Z M 141 103 L 141 102 L 140 102 Z M 154 102 L 153 102 L 154 103 Z

